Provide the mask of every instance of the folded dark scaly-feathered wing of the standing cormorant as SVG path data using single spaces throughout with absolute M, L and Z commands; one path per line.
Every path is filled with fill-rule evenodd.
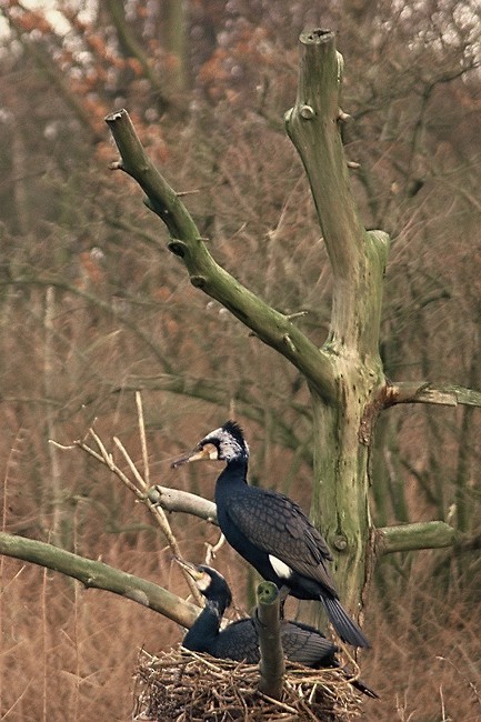
M 288 497 L 250 487 L 249 494 L 232 493 L 227 514 L 255 546 L 338 595 L 325 564 L 332 560 L 325 541 Z

